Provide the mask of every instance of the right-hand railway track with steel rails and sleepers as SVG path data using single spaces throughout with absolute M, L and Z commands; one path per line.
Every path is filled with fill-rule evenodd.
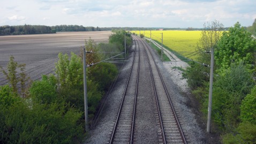
M 174 105 L 170 99 L 167 88 L 165 87 L 160 70 L 156 65 L 152 52 L 148 44 L 141 41 L 142 46 L 147 54 L 148 63 L 150 64 L 150 73 L 153 81 L 155 92 L 156 107 L 159 115 L 160 127 L 162 132 L 163 143 L 187 143 L 185 136 L 177 118 Z

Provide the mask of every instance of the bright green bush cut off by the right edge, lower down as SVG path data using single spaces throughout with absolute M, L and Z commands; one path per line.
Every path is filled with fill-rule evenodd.
M 256 86 L 252 88 L 252 92 L 242 101 L 240 107 L 241 115 L 240 118 L 243 122 L 250 122 L 256 125 Z

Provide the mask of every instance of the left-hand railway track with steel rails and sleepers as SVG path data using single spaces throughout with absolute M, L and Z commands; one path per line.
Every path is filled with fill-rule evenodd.
M 139 48 L 135 48 L 132 67 L 109 143 L 132 143 L 139 79 Z

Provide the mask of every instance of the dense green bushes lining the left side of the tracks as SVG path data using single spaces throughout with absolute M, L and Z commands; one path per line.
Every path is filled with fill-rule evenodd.
M 116 34 L 121 33 L 125 32 Z M 123 51 L 123 43 L 113 38 L 116 34 L 110 36 L 109 44 L 86 41 L 86 50 L 111 51 L 115 46 L 119 48 L 117 51 Z M 110 56 L 86 54 L 86 63 Z M 7 70 L 1 68 L 9 85 L 0 86 L 0 143 L 82 142 L 85 135 L 82 57 L 71 52 L 70 57 L 59 53 L 58 58 L 56 74 L 42 75 L 32 85 L 28 85 L 25 64 L 18 64 L 14 57 L 10 57 Z M 102 62 L 87 67 L 86 73 L 88 112 L 92 118 L 118 69 L 114 64 Z

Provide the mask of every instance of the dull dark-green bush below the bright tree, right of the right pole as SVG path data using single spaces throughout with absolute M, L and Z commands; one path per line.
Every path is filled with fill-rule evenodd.
M 252 77 L 242 64 L 232 64 L 230 70 L 216 78 L 213 90 L 213 118 L 221 130 L 238 125 L 240 104 L 252 87 Z

